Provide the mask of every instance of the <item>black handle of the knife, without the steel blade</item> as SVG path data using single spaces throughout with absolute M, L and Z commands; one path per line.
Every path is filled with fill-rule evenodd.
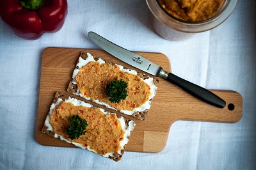
M 202 88 L 196 84 L 193 84 L 192 82 L 186 81 L 178 77 L 177 75 L 174 75 L 173 73 L 168 73 L 166 80 L 169 82 L 172 82 L 179 88 L 184 89 L 191 95 L 195 96 L 196 98 L 199 98 L 200 100 L 208 104 L 211 104 L 220 108 L 223 108 L 226 105 L 226 102 L 223 99 L 221 99 L 211 91 L 205 88 Z

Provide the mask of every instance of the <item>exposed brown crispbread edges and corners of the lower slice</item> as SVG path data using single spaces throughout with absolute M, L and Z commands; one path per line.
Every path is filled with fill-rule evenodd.
M 53 101 L 52 101 L 52 104 L 55 104 L 55 103 L 57 102 L 58 98 L 61 98 L 62 100 L 65 100 L 65 99 L 68 99 L 68 97 L 70 97 L 70 96 L 67 95 L 67 94 L 65 94 L 65 93 L 56 92 L 56 94 L 55 94 L 55 96 L 54 96 L 54 99 L 53 99 Z M 71 98 L 74 98 L 74 97 L 71 97 Z M 84 102 L 84 101 L 83 101 L 83 102 Z M 86 102 L 85 102 L 85 103 L 86 103 Z M 95 106 L 93 105 L 92 107 L 95 107 Z M 106 112 L 108 112 L 108 111 L 106 111 Z M 109 112 L 109 114 L 115 114 L 115 113 Z M 48 114 L 47 116 L 50 116 L 50 112 L 49 112 L 49 114 Z M 116 114 L 116 116 L 117 116 L 118 118 L 122 117 L 122 116 L 118 116 L 117 114 Z M 122 118 L 124 118 L 124 117 L 122 117 Z M 46 121 L 46 120 L 45 120 L 45 121 Z M 132 120 L 129 120 L 128 118 L 124 118 L 124 121 L 125 121 L 126 128 L 128 128 L 128 127 L 129 127 L 129 122 L 132 121 Z M 132 125 L 133 125 L 132 128 L 134 128 L 135 123 L 133 123 Z M 54 131 L 52 131 L 52 130 L 47 130 L 47 129 L 48 129 L 48 127 L 46 126 L 46 123 L 45 123 L 45 124 L 44 124 L 44 127 L 42 128 L 42 132 L 43 132 L 44 134 L 50 135 L 50 136 L 52 136 L 52 137 L 56 137 Z M 131 130 L 131 131 L 132 131 L 132 130 Z M 129 140 L 129 137 L 130 137 L 130 136 L 127 136 L 128 140 Z M 60 137 L 56 137 L 56 138 L 59 138 L 59 139 L 60 139 Z M 67 142 L 67 141 L 66 141 L 66 142 Z M 110 158 L 111 160 L 115 160 L 116 162 L 117 162 L 118 160 L 121 160 L 122 156 L 124 155 L 124 151 L 125 151 L 126 145 L 127 145 L 127 144 L 125 144 L 125 145 L 123 146 L 123 148 L 120 150 L 121 153 L 115 153 L 115 152 L 114 152 L 113 155 L 109 155 L 108 158 Z M 92 152 L 93 152 L 93 151 L 92 151 Z M 95 153 L 95 152 L 93 152 L 93 153 Z M 96 153 L 96 154 L 97 154 L 97 153 Z M 102 156 L 102 155 L 100 155 L 100 156 Z

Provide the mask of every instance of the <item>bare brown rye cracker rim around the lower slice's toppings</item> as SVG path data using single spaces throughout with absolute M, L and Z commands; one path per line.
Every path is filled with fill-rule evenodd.
M 73 98 L 73 97 L 70 97 L 69 95 L 66 95 L 66 94 L 64 94 L 64 93 L 57 92 L 57 93 L 55 94 L 55 96 L 54 96 L 54 100 L 52 101 L 52 104 L 56 104 L 56 102 L 58 101 L 59 98 L 61 98 L 62 100 L 65 101 L 66 99 L 68 99 L 68 98 Z M 81 101 L 81 100 L 78 100 L 78 101 L 84 102 L 84 101 Z M 86 102 L 84 102 L 84 103 L 86 103 Z M 92 107 L 95 107 L 95 106 L 92 106 Z M 105 111 L 105 112 L 108 112 L 108 111 Z M 49 114 L 47 115 L 47 118 L 48 118 L 48 116 L 51 116 L 50 113 L 51 113 L 51 112 L 49 112 Z M 114 113 L 108 112 L 108 114 L 114 114 Z M 122 117 L 122 116 L 118 116 L 118 115 L 116 115 L 116 116 L 117 116 L 118 118 Z M 44 134 L 51 135 L 52 137 L 56 137 L 56 138 L 59 138 L 59 139 L 64 140 L 64 141 L 67 142 L 67 140 L 63 139 L 63 137 L 61 137 L 60 135 L 54 133 L 54 132 L 52 131 L 53 128 L 52 128 L 52 130 L 49 130 L 49 124 L 47 125 L 47 123 L 46 123 L 47 118 L 46 118 L 46 120 L 45 120 L 44 127 L 42 128 L 42 132 L 43 132 Z M 49 118 L 50 118 L 50 117 L 49 117 Z M 125 129 L 127 130 L 127 129 L 129 128 L 129 129 L 130 129 L 130 132 L 129 132 L 129 133 L 131 133 L 132 129 L 133 129 L 134 126 L 135 126 L 134 121 L 129 120 L 129 119 L 124 118 L 124 117 L 122 117 L 122 118 L 124 119 L 124 122 L 125 122 L 125 126 L 126 126 Z M 129 125 L 130 123 L 131 123 L 131 125 Z M 131 127 L 131 126 L 132 126 L 132 127 Z M 131 128 L 132 128 L 132 129 L 131 129 Z M 125 133 L 126 133 L 126 132 L 125 132 Z M 129 137 L 130 137 L 130 134 L 127 135 L 127 142 L 128 142 L 128 140 L 129 140 Z M 68 143 L 70 143 L 70 142 L 68 142 Z M 75 144 L 75 143 L 73 143 L 73 144 Z M 75 144 L 75 145 L 77 146 L 77 144 Z M 79 147 L 79 146 L 78 146 L 78 147 Z M 81 148 L 82 148 L 82 147 L 81 147 Z M 115 160 L 115 161 L 117 162 L 118 160 L 120 160 L 120 159 L 122 158 L 122 155 L 124 154 L 125 148 L 126 148 L 126 144 L 125 144 L 124 146 L 122 146 L 122 148 L 121 148 L 121 150 L 120 150 L 120 153 L 115 153 L 115 152 L 113 152 L 113 153 L 111 153 L 111 155 L 108 155 L 108 158 L 110 158 L 110 159 L 112 159 L 112 160 Z M 87 148 L 85 148 L 85 149 L 88 150 Z M 92 150 L 89 150 L 89 151 L 92 151 Z M 93 151 L 93 152 L 94 152 L 94 151 Z M 95 153 L 95 152 L 94 152 L 94 153 Z M 99 154 L 99 155 L 100 155 L 100 154 Z M 103 156 L 103 155 L 101 155 L 101 156 Z M 106 156 L 105 156 L 105 157 L 106 157 Z

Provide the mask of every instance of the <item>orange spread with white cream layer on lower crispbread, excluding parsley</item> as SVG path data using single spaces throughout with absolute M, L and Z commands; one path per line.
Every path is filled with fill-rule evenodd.
M 68 137 L 67 127 L 71 124 L 69 118 L 76 115 L 86 120 L 87 126 L 85 134 L 72 140 Z M 58 98 L 51 105 L 45 125 L 47 130 L 54 132 L 54 137 L 108 157 L 113 156 L 113 153 L 121 154 L 135 123 L 129 121 L 127 127 L 122 116 L 118 118 L 116 114 L 69 97 L 65 100 Z

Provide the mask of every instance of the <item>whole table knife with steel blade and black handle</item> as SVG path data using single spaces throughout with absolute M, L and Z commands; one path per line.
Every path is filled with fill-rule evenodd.
M 225 107 L 226 102 L 211 91 L 202 88 L 196 84 L 193 84 L 192 82 L 186 81 L 178 77 L 177 75 L 174 75 L 173 73 L 166 72 L 161 66 L 158 66 L 155 63 L 149 61 L 148 59 L 145 59 L 142 56 L 135 54 L 134 52 L 124 49 L 116 45 L 115 43 L 109 42 L 109 40 L 106 40 L 102 36 L 97 35 L 92 31 L 88 33 L 88 37 L 100 48 L 104 49 L 106 52 L 124 61 L 125 63 L 134 66 L 142 70 L 143 72 L 163 77 L 167 81 L 172 82 L 179 88 L 184 89 L 184 91 L 187 91 L 191 95 L 199 98 L 200 100 L 208 104 L 220 108 Z

